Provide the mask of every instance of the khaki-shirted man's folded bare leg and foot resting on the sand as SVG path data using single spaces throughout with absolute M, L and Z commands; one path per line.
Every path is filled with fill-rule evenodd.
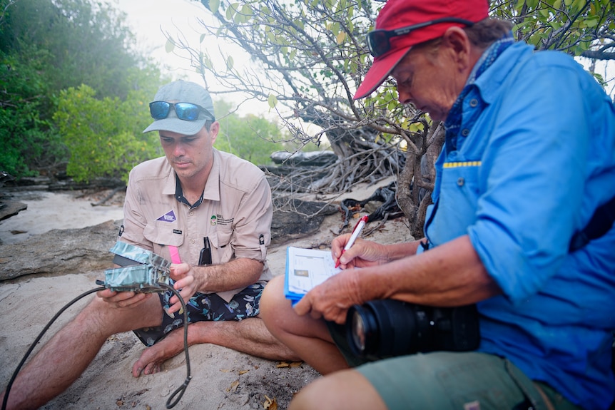
M 273 337 L 260 317 L 240 322 L 196 322 L 188 325 L 188 345 L 213 343 L 239 352 L 272 360 L 299 360 L 299 357 Z M 160 342 L 148 347 L 133 365 L 133 376 L 160 371 L 161 364 L 183 350 L 183 328 L 175 329 Z

